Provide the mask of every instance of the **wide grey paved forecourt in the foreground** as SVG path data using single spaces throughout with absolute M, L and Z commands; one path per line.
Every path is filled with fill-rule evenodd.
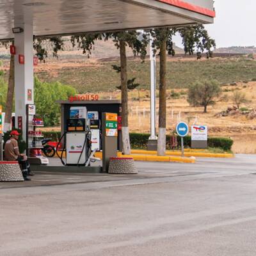
M 0 255 L 255 255 L 256 157 L 0 184 Z M 15 188 L 13 188 L 15 186 Z

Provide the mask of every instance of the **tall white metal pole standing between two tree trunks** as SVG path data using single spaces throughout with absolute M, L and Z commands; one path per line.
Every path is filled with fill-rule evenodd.
M 157 140 L 156 136 L 156 56 L 152 47 L 153 38 L 150 35 L 150 137 Z

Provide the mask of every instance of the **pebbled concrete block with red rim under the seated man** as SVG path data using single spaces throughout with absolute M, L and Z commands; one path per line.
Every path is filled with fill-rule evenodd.
M 0 181 L 24 181 L 17 161 L 0 161 Z

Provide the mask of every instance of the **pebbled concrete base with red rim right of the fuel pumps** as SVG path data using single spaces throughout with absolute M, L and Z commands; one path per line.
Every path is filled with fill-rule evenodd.
M 111 174 L 137 174 L 132 157 L 110 157 L 108 173 Z

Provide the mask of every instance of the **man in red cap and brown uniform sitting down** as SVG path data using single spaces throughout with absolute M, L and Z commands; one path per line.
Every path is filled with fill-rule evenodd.
M 19 132 L 12 131 L 10 140 L 6 141 L 4 145 L 4 160 L 5 161 L 18 161 L 22 166 L 22 175 L 24 180 L 30 180 L 29 176 L 33 176 L 33 173 L 30 171 L 30 166 L 28 163 L 28 157 L 25 154 L 20 154 L 19 152 Z

